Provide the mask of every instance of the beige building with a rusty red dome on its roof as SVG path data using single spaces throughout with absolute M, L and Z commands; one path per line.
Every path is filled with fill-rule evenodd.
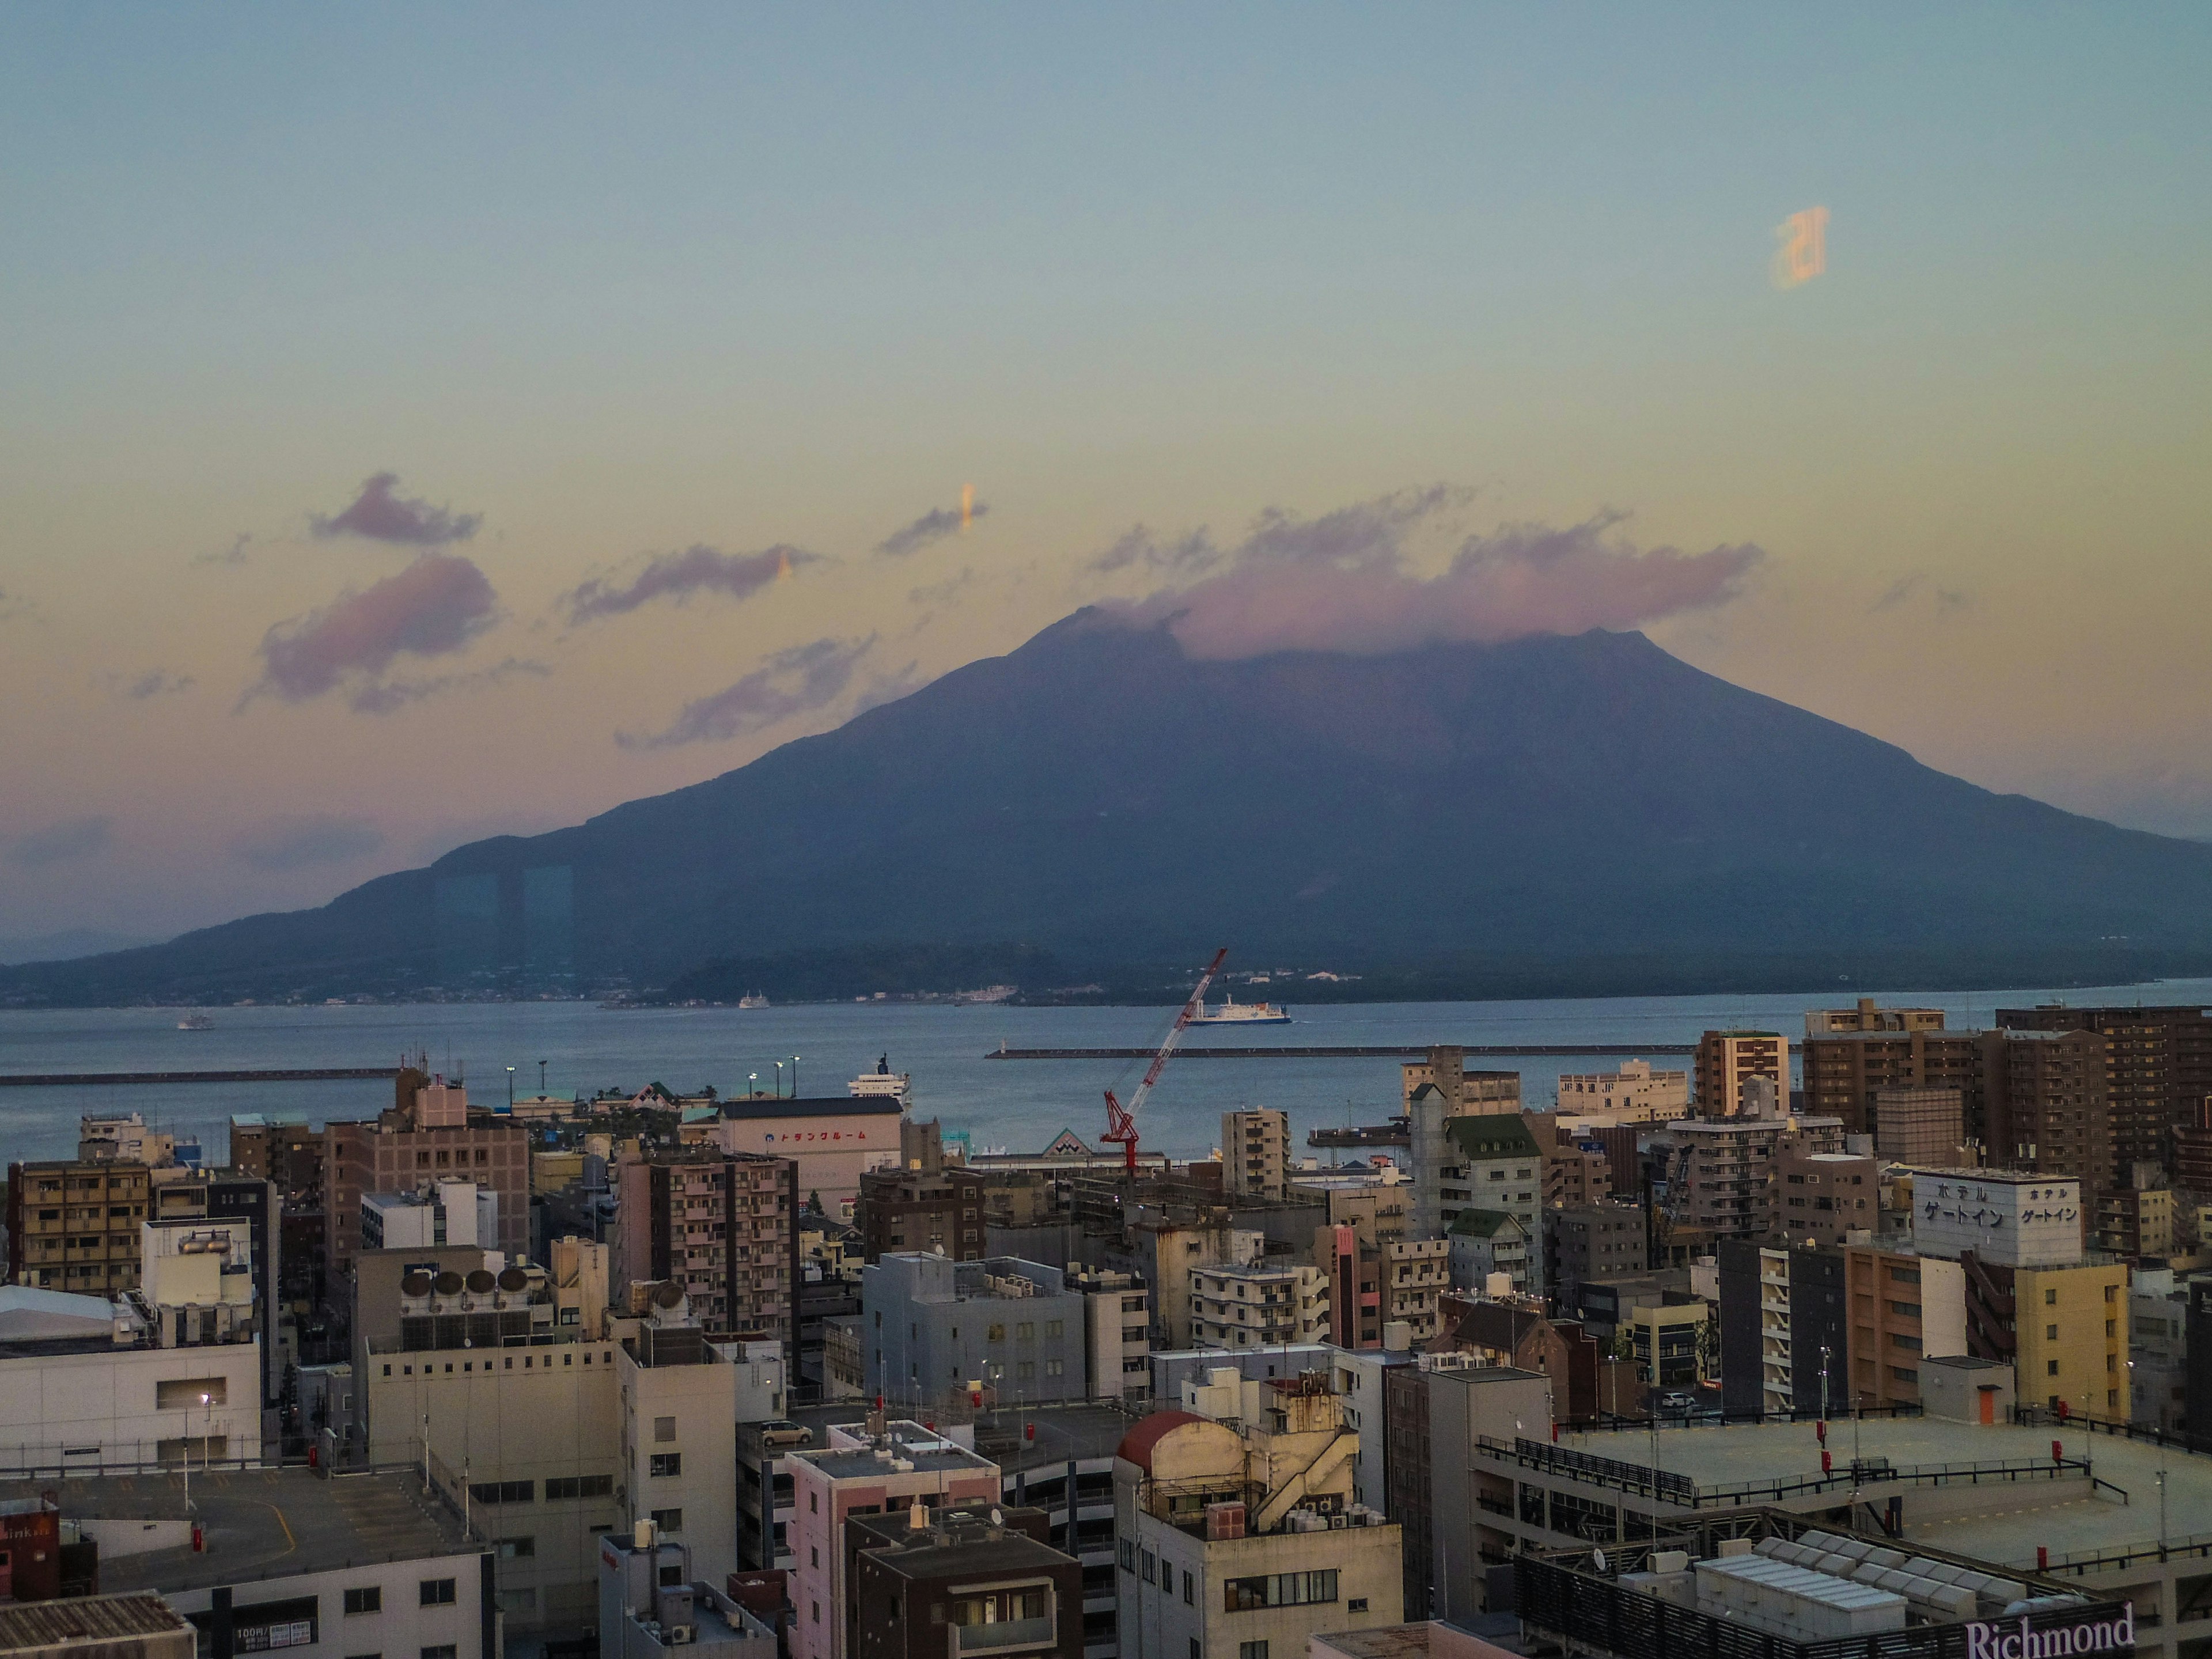
M 1256 1420 L 1155 1411 L 1115 1453 L 1119 1659 L 1296 1659 L 1394 1626 L 1402 1528 L 1352 1498 L 1360 1438 L 1327 1376 L 1270 1378 Z

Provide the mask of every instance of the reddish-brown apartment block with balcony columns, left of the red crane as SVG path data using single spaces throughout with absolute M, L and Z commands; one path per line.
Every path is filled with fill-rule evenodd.
M 615 1166 L 611 1279 L 677 1283 L 706 1329 L 781 1343 L 796 1365 L 799 1170 L 792 1159 L 690 1146 Z M 502 1217 L 500 1232 L 507 1223 Z

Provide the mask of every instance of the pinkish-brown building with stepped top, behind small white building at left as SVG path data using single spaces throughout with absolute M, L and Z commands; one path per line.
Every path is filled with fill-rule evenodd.
M 403 1104 L 367 1124 L 323 1130 L 323 1214 L 330 1219 L 327 1279 L 343 1285 L 361 1254 L 352 1219 L 372 1192 L 422 1192 L 440 1179 L 469 1179 L 493 1192 L 509 1261 L 531 1248 L 529 1128 L 469 1106 L 469 1091 L 445 1077 L 403 1071 Z

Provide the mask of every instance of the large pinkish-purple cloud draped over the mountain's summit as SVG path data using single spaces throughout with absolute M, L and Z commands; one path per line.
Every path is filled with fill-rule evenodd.
M 1464 535 L 1444 568 L 1425 575 L 1409 557 L 1411 544 L 1449 529 L 1449 513 L 1464 500 L 1464 491 L 1429 489 L 1316 520 L 1270 511 L 1232 549 L 1219 549 L 1206 531 L 1177 542 L 1133 531 L 1093 568 L 1190 573 L 1179 586 L 1113 608 L 1139 624 L 1166 622 L 1192 657 L 1237 659 L 1635 628 L 1721 604 L 1765 557 L 1747 542 L 1703 553 L 1637 549 L 1615 533 L 1621 513 L 1599 513 L 1566 529 L 1509 524 Z

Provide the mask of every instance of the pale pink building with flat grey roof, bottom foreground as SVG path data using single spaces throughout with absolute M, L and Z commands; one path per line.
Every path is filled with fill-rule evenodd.
M 991 1504 L 1002 1495 L 995 1462 L 905 1418 L 832 1425 L 825 1447 L 792 1451 L 781 1462 L 792 1478 L 792 1659 L 854 1652 L 845 1551 L 852 1515 Z M 942 1630 L 938 1639 L 947 1639 Z

